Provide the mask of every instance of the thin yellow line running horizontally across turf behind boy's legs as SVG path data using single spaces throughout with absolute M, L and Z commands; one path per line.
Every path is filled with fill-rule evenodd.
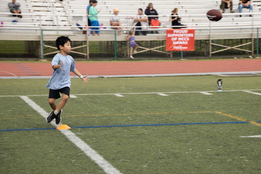
M 197 111 L 197 112 L 162 112 L 162 113 L 121 113 L 121 114 L 99 114 L 99 115 L 68 115 L 63 117 L 80 117 L 80 116 L 110 116 L 110 115 L 152 115 L 152 114 L 175 114 L 175 113 L 210 113 L 215 111 Z M 11 117 L 0 119 L 14 119 L 14 118 L 42 118 L 42 117 Z

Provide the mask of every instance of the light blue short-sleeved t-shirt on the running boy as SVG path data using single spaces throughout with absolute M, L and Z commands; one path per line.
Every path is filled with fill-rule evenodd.
M 60 53 L 54 56 L 52 59 L 52 66 L 62 63 L 62 69 L 54 69 L 51 79 L 48 84 L 45 85 L 50 89 L 61 89 L 71 86 L 70 71 L 75 71 L 75 62 L 72 56 L 63 56 Z

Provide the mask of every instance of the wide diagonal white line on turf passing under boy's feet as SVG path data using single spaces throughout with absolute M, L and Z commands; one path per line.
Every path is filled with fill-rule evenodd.
M 37 105 L 33 100 L 29 99 L 27 96 L 21 96 L 21 98 L 31 106 L 35 111 L 37 111 L 41 116 L 46 118 L 49 113 L 47 113 L 43 108 Z M 61 124 L 57 125 L 52 121 L 54 127 L 58 127 Z M 72 141 L 77 147 L 79 147 L 88 157 L 90 157 L 96 164 L 98 164 L 105 173 L 108 174 L 121 174 L 116 168 L 114 168 L 108 161 L 106 161 L 101 155 L 99 155 L 95 150 L 88 146 L 84 141 L 77 137 L 72 131 L 65 129 L 60 130 L 70 141 Z

